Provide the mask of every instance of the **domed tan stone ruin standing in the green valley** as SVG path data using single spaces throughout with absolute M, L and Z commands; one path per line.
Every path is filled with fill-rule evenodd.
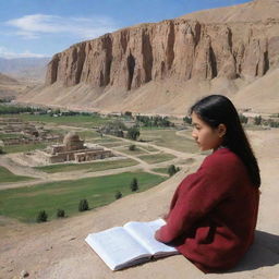
M 45 163 L 65 161 L 90 161 L 113 157 L 111 150 L 101 147 L 88 148 L 76 133 L 70 132 L 64 136 L 63 144 L 51 145 L 44 150 L 37 150 L 37 159 Z

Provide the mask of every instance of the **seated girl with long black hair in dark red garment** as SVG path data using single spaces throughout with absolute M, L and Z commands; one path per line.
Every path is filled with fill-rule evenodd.
M 260 175 L 232 102 L 211 95 L 191 109 L 192 136 L 213 149 L 172 197 L 155 238 L 174 245 L 204 272 L 233 267 L 254 240 Z

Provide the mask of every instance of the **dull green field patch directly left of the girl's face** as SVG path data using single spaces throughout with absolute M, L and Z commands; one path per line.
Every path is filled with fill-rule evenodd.
M 141 138 L 178 151 L 198 151 L 194 140 L 179 136 L 175 134 L 175 130 L 141 130 Z M 189 131 L 189 135 L 191 136 L 191 131 Z

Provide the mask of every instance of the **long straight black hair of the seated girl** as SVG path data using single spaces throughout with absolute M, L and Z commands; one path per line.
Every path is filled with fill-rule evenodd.
M 254 186 L 260 186 L 260 175 L 257 159 L 254 156 L 247 136 L 240 122 L 239 113 L 231 100 L 222 95 L 209 95 L 198 100 L 190 108 L 190 114 L 195 112 L 213 129 L 225 124 L 227 132 L 222 146 L 236 154 L 247 168 L 250 179 Z

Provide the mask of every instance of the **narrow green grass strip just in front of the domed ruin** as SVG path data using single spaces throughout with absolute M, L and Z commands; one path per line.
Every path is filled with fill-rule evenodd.
M 121 159 L 121 160 L 96 161 L 96 162 L 85 162 L 85 163 L 59 163 L 59 165 L 50 165 L 50 166 L 44 166 L 44 167 L 35 167 L 35 169 L 38 169 L 48 173 L 75 171 L 75 170 L 87 170 L 87 172 L 92 172 L 92 171 L 125 168 L 125 167 L 135 166 L 137 163 L 138 163 L 137 161 L 132 159 Z

